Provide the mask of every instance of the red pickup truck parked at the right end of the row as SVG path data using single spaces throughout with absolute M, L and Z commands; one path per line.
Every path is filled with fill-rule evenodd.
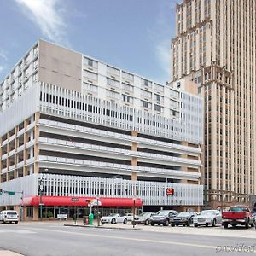
M 252 227 L 254 226 L 253 213 L 247 206 L 230 207 L 228 212 L 222 212 L 222 224 L 224 229 L 227 229 L 229 224 L 231 224 L 232 227 L 235 227 L 238 224 L 245 225 L 248 229 L 250 225 Z

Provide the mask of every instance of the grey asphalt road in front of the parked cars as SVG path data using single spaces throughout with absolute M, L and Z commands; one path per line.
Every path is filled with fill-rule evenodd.
M 256 240 L 253 238 L 209 234 L 203 236 L 191 232 L 184 234 L 182 231 L 170 233 L 169 229 L 175 228 L 165 227 L 164 232 L 160 232 L 154 231 L 154 227 L 143 227 L 142 230 L 109 230 L 70 227 L 56 223 L 0 224 L 0 249 L 26 256 L 233 256 L 256 253 Z M 252 234 L 256 232 L 250 231 Z M 205 232 L 209 233 L 211 229 L 206 229 Z M 232 252 L 232 249 L 238 252 Z M 253 249 L 255 251 L 251 253 L 250 250 Z

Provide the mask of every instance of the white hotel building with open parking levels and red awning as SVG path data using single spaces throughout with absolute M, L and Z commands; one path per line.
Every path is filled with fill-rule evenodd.
M 197 89 L 39 40 L 0 84 L 0 106 L 0 188 L 15 191 L 0 205 L 26 219 L 40 205 L 72 217 L 96 198 L 154 211 L 203 203 Z

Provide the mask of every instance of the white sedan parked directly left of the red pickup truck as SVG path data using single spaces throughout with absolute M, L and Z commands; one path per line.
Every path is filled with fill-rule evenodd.
M 195 227 L 201 225 L 212 225 L 215 227 L 216 224 L 222 224 L 221 212 L 218 210 L 204 210 L 199 215 L 193 218 L 193 224 Z

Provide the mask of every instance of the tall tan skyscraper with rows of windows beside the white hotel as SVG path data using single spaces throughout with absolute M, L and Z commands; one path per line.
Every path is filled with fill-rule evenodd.
M 256 193 L 255 9 L 254 0 L 177 4 L 171 81 L 201 73 L 205 184 L 214 207 Z

